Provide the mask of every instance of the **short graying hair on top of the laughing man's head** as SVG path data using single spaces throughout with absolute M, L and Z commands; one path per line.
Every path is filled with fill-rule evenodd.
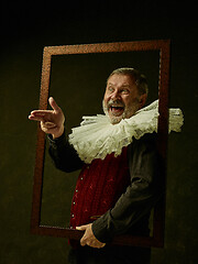
M 116 75 L 116 74 L 117 75 L 128 75 L 128 76 L 132 77 L 135 80 L 136 87 L 139 89 L 139 94 L 140 95 L 148 94 L 148 86 L 147 86 L 146 77 L 143 74 L 141 74 L 138 69 L 128 68 L 128 67 L 114 69 L 108 77 L 107 81 L 109 80 L 109 78 L 112 75 Z

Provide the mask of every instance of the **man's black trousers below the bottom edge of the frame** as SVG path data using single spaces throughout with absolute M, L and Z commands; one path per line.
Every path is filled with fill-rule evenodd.
M 133 246 L 108 246 L 72 249 L 69 264 L 150 264 L 151 250 Z

